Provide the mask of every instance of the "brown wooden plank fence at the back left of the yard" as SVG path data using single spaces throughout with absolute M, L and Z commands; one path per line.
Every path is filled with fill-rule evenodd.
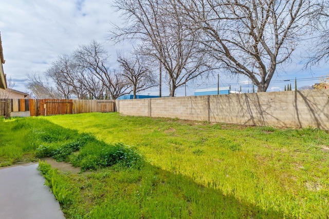
M 115 102 L 105 99 L 0 99 L 0 116 L 6 117 L 114 111 Z

